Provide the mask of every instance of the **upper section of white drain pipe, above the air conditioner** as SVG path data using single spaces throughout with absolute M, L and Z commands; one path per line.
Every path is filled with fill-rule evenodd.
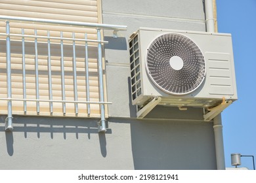
M 205 24 L 206 31 L 214 33 L 213 0 L 205 0 Z

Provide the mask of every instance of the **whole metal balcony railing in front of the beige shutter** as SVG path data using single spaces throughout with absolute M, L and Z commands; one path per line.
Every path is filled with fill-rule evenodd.
M 7 72 L 7 97 L 0 98 L 1 101 L 7 101 L 7 118 L 5 120 L 5 130 L 12 130 L 12 101 L 22 101 L 24 113 L 27 110 L 27 102 L 35 102 L 36 103 L 36 112 L 37 114 L 40 113 L 40 103 L 47 102 L 49 103 L 49 110 L 53 113 L 53 103 L 62 103 L 62 112 L 63 114 L 66 113 L 66 103 L 74 103 L 75 114 L 78 113 L 78 104 L 83 103 L 87 105 L 87 114 L 90 114 L 90 105 L 91 104 L 98 104 L 100 107 L 100 121 L 98 122 L 98 129 L 99 131 L 106 131 L 106 117 L 105 117 L 105 106 L 110 104 L 110 102 L 104 101 L 104 79 L 103 79 L 103 68 L 102 68 L 102 44 L 107 43 L 107 41 L 102 40 L 101 31 L 103 29 L 108 29 L 114 31 L 114 37 L 116 37 L 117 31 L 124 31 L 127 29 L 126 26 L 123 25 L 109 25 L 109 24 L 90 24 L 85 22 L 69 22 L 69 21 L 57 21 L 57 20 L 46 20 L 46 19 L 39 19 L 39 18 L 17 18 L 11 16 L 0 16 L 0 20 L 5 21 L 5 33 L 0 33 L 0 37 L 5 37 L 6 39 L 6 72 Z M 32 23 L 32 24 L 42 24 L 43 25 L 65 25 L 65 26 L 72 26 L 72 27 L 88 27 L 96 29 L 96 39 L 87 39 L 87 33 L 85 33 L 84 39 L 77 39 L 75 38 L 75 32 L 72 33 L 72 37 L 64 37 L 62 31 L 60 31 L 60 36 L 51 36 L 50 31 L 47 30 L 47 35 L 37 35 L 37 29 L 34 29 L 33 35 L 26 35 L 24 33 L 24 28 L 19 27 L 21 29 L 21 33 L 10 33 L 10 22 L 22 22 L 22 23 Z M 22 90 L 23 90 L 23 97 L 16 98 L 12 97 L 12 69 L 11 69 L 11 40 L 19 38 L 21 41 L 21 49 L 22 49 Z M 25 65 L 25 44 L 26 39 L 30 39 L 30 44 L 34 45 L 34 69 L 35 69 L 35 99 L 27 99 L 26 97 L 26 65 Z M 39 93 L 39 56 L 38 50 L 39 41 L 45 40 L 45 44 L 47 45 L 47 75 L 48 75 L 48 92 L 49 92 L 49 99 L 41 99 L 41 95 Z M 31 41 L 32 40 L 32 41 Z M 60 88 L 61 88 L 61 100 L 53 99 L 53 88 L 52 88 L 52 65 L 51 65 L 51 41 L 58 41 L 60 44 Z M 65 72 L 64 72 L 64 41 L 70 41 L 70 52 L 73 54 L 72 58 L 72 77 L 73 77 L 73 87 L 74 87 L 74 100 L 66 100 L 65 94 Z M 84 56 L 85 56 L 85 84 L 86 84 L 86 99 L 87 101 L 79 101 L 77 99 L 77 69 L 76 69 L 76 42 L 84 42 Z M 96 44 L 97 47 L 97 69 L 98 69 L 98 101 L 91 101 L 90 100 L 90 91 L 89 91 L 89 51 L 88 51 L 88 44 Z M 1 50 L 0 50 L 1 51 Z

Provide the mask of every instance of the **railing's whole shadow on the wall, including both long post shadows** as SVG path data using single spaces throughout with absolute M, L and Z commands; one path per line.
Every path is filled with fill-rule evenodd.
M 79 139 L 79 134 L 87 134 L 88 139 L 91 139 L 91 134 L 98 134 L 100 144 L 100 152 L 102 157 L 106 157 L 106 136 L 105 133 L 98 133 L 98 119 L 84 118 L 51 118 L 39 116 L 13 116 L 14 128 L 12 131 L 5 131 L 5 118 L 1 116 L 0 132 L 5 133 L 7 143 L 7 152 L 9 156 L 14 154 L 14 137 L 13 133 L 24 132 L 24 139 L 28 138 L 29 133 L 37 133 L 37 138 L 40 139 L 42 133 L 49 133 L 51 139 L 54 139 L 54 134 L 63 133 L 63 139 L 66 140 L 68 133 L 75 135 Z M 108 124 L 106 124 L 108 127 Z M 108 129 L 106 134 L 111 134 L 112 129 Z

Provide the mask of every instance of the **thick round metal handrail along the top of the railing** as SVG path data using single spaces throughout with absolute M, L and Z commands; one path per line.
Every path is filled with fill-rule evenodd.
M 113 30 L 113 31 L 127 30 L 127 26 L 125 26 L 125 25 L 97 24 L 97 23 L 89 23 L 89 22 L 73 22 L 73 21 L 66 21 L 66 20 L 51 20 L 51 19 L 44 19 L 44 18 L 0 16 L 0 20 L 5 20 L 5 21 L 13 20 L 15 22 L 37 22 L 37 23 L 41 23 L 41 24 L 53 24 L 53 25 L 71 25 L 74 27 L 109 29 L 109 30 Z

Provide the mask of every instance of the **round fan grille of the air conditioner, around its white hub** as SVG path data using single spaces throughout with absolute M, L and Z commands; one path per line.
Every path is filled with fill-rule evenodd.
M 170 59 L 182 59 L 182 68 L 173 69 Z M 205 61 L 196 44 L 177 33 L 167 33 L 154 39 L 146 56 L 146 68 L 151 80 L 164 92 L 184 95 L 200 86 L 205 77 Z

